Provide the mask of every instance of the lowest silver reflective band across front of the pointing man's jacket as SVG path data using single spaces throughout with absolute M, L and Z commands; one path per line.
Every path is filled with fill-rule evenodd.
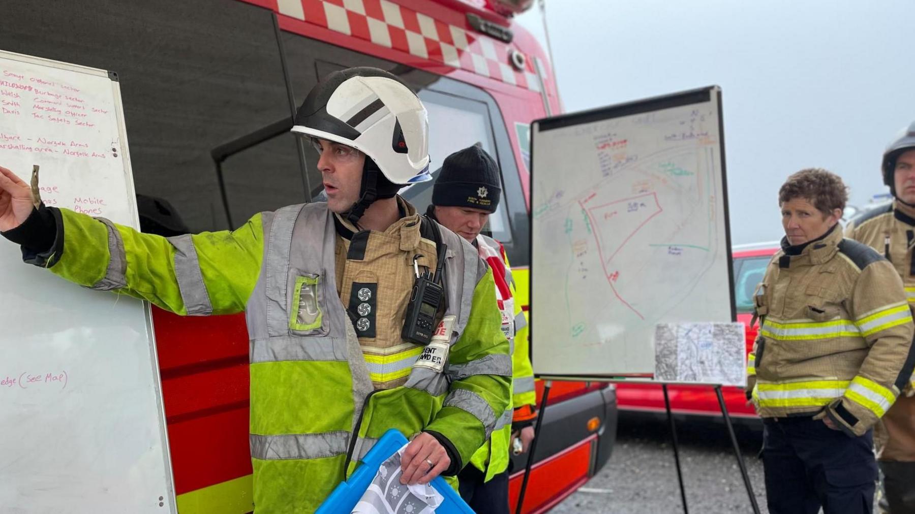
M 261 460 L 314 459 L 346 454 L 349 432 L 248 436 L 252 458 Z

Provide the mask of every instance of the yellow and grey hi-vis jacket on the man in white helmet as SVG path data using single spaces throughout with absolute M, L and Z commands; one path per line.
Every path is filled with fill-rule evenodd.
M 432 343 L 418 352 L 411 343 L 376 346 L 388 351 L 366 355 L 384 329 L 381 316 L 403 319 L 413 283 L 396 282 L 412 273 L 417 249 L 436 251 L 414 209 L 404 207 L 407 215 L 388 230 L 351 234 L 341 269 L 344 236 L 323 203 L 260 213 L 231 232 L 168 239 L 52 209 L 58 241 L 27 262 L 179 315 L 244 311 L 254 507 L 314 512 L 389 428 L 435 435 L 459 469 L 509 405 L 511 357 L 492 272 L 444 228 L 448 303 Z M 369 269 L 369 262 L 384 265 Z M 350 308 L 340 300 L 338 274 Z M 398 385 L 376 389 L 389 383 Z

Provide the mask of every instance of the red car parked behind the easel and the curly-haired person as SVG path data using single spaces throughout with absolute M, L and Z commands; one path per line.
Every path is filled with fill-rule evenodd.
M 734 300 L 737 304 L 737 321 L 744 324 L 747 334 L 747 353 L 753 348 L 753 340 L 759 331 L 749 327 L 753 317 L 753 292 L 762 281 L 772 255 L 780 250 L 779 242 L 767 242 L 735 246 L 734 255 Z M 671 412 L 674 414 L 720 416 L 721 408 L 715 391 L 707 386 L 669 386 L 668 396 L 671 400 Z M 752 405 L 747 404 L 744 391 L 737 387 L 724 387 L 722 393 L 727 405 L 727 412 L 733 418 L 758 420 Z M 661 386 L 654 384 L 617 385 L 617 402 L 622 412 L 663 413 L 664 393 Z

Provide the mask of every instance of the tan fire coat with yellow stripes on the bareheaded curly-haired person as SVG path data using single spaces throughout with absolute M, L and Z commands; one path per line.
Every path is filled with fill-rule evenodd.
M 899 274 L 838 226 L 806 245 L 782 240 L 755 300 L 748 387 L 759 416 L 824 411 L 862 435 L 908 382 L 915 328 Z

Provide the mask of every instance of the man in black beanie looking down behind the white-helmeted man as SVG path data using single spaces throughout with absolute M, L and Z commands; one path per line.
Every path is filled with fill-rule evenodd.
M 527 320 L 514 301 L 514 283 L 505 249 L 480 232 L 499 207 L 501 177 L 495 160 L 477 144 L 445 159 L 432 190 L 426 215 L 457 233 L 479 251 L 492 268 L 502 332 L 512 350 L 512 406 L 492 431 L 490 443 L 474 454 L 458 474 L 461 497 L 478 514 L 509 514 L 509 451 L 527 451 L 537 413 L 533 368 L 529 359 Z

